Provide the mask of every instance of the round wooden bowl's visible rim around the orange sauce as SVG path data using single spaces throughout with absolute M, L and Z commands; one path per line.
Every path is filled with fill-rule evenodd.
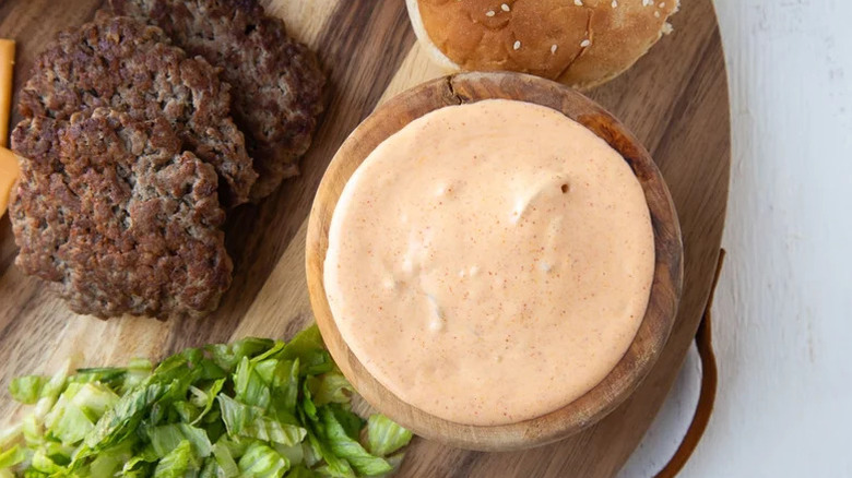
M 372 150 L 409 122 L 435 109 L 482 99 L 518 99 L 547 106 L 585 126 L 618 151 L 644 190 L 654 231 L 656 264 L 651 297 L 636 338 L 594 389 L 547 415 L 500 426 L 448 421 L 417 409 L 381 385 L 350 350 L 329 309 L 323 262 L 329 226 L 343 187 Z M 346 139 L 313 200 L 307 234 L 308 290 L 322 337 L 343 373 L 366 401 L 416 434 L 470 450 L 507 451 L 542 445 L 596 422 L 636 390 L 663 349 L 674 322 L 683 276 L 681 226 L 668 189 L 653 159 L 615 118 L 585 96 L 547 80 L 519 73 L 461 73 L 424 83 L 380 106 Z M 570 370 L 566 370 L 570 373 Z

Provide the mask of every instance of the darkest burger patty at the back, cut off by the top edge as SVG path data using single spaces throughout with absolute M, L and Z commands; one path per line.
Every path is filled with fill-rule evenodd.
M 252 200 L 298 174 L 298 158 L 322 111 L 324 77 L 313 53 L 256 0 L 110 0 L 115 13 L 142 16 L 175 45 L 222 68 L 234 86 L 234 118 L 259 178 Z

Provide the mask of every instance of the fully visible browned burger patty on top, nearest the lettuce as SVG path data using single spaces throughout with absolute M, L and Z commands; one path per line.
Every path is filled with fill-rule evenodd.
M 36 117 L 12 135 L 25 156 L 10 217 L 16 264 L 55 283 L 78 313 L 200 316 L 230 284 L 214 167 L 164 118 L 107 108 Z

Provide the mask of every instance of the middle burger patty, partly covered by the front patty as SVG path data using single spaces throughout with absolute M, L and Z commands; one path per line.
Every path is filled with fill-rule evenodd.
M 187 58 L 168 43 L 141 20 L 98 13 L 37 57 L 20 111 L 61 121 L 108 107 L 134 120 L 164 118 L 184 148 L 215 167 L 223 202 L 244 203 L 257 174 L 229 117 L 229 86 L 204 59 Z

